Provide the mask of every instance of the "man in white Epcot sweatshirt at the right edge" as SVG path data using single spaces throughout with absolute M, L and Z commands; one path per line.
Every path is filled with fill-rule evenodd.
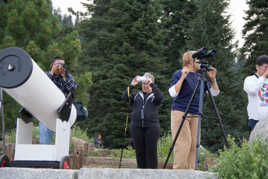
M 248 93 L 248 127 L 252 131 L 259 120 L 268 115 L 268 56 L 262 55 L 256 60 L 257 72 L 248 76 L 244 90 Z

